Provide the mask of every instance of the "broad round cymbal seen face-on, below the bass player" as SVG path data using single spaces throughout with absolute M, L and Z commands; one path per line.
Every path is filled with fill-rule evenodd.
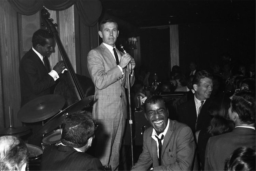
M 18 111 L 18 119 L 22 122 L 39 122 L 52 117 L 62 109 L 65 99 L 60 95 L 45 95 L 26 103 Z

